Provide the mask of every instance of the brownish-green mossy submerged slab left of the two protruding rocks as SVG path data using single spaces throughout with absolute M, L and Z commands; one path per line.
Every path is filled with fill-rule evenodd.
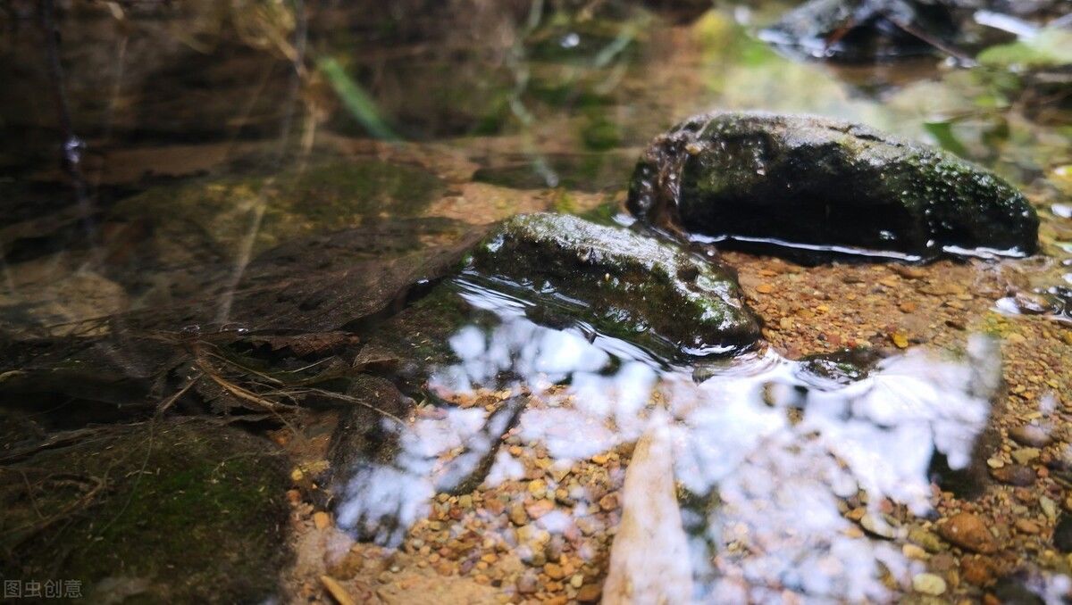
M 445 184 L 423 168 L 378 160 L 328 162 L 303 171 L 159 186 L 117 203 L 110 220 L 140 222 L 165 264 L 230 260 L 257 207 L 259 253 L 284 242 L 386 218 L 414 217 Z

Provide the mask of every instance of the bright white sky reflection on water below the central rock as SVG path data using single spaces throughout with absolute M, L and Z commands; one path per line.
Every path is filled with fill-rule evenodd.
M 340 526 L 400 544 L 435 494 L 523 477 L 513 455 L 495 451 L 500 440 L 546 450 L 550 464 L 565 469 L 639 440 L 605 590 L 626 570 L 632 590 L 666 590 L 668 583 L 645 584 L 644 574 L 670 573 L 691 578 L 695 596 L 715 602 L 780 601 L 784 590 L 889 599 L 891 586 L 904 588 L 923 571 L 891 542 L 906 539 L 907 529 L 887 514 L 890 506 L 932 511 L 932 458 L 942 454 L 954 470 L 969 466 L 1000 377 L 996 347 L 982 336 L 958 360 L 911 349 L 850 381 L 773 352 L 702 372 L 675 367 L 584 327 L 539 326 L 525 317 L 524 301 L 456 286 L 500 321 L 459 330 L 450 339 L 458 362 L 430 383 L 446 398 L 498 390 L 504 403 L 419 414 L 400 429 L 393 460 L 357 470 Z M 525 408 L 511 411 L 517 402 Z M 470 477 L 492 457 L 486 475 Z M 630 489 L 629 477 L 658 468 L 672 469 L 669 496 L 659 501 L 651 490 Z M 547 491 L 564 486 L 549 481 Z M 598 501 L 599 494 L 575 485 L 539 527 L 568 534 L 596 520 Z M 623 529 L 632 526 L 639 530 Z M 609 529 L 607 521 L 601 530 Z M 690 555 L 671 558 L 673 564 L 641 564 L 628 555 L 681 544 Z

